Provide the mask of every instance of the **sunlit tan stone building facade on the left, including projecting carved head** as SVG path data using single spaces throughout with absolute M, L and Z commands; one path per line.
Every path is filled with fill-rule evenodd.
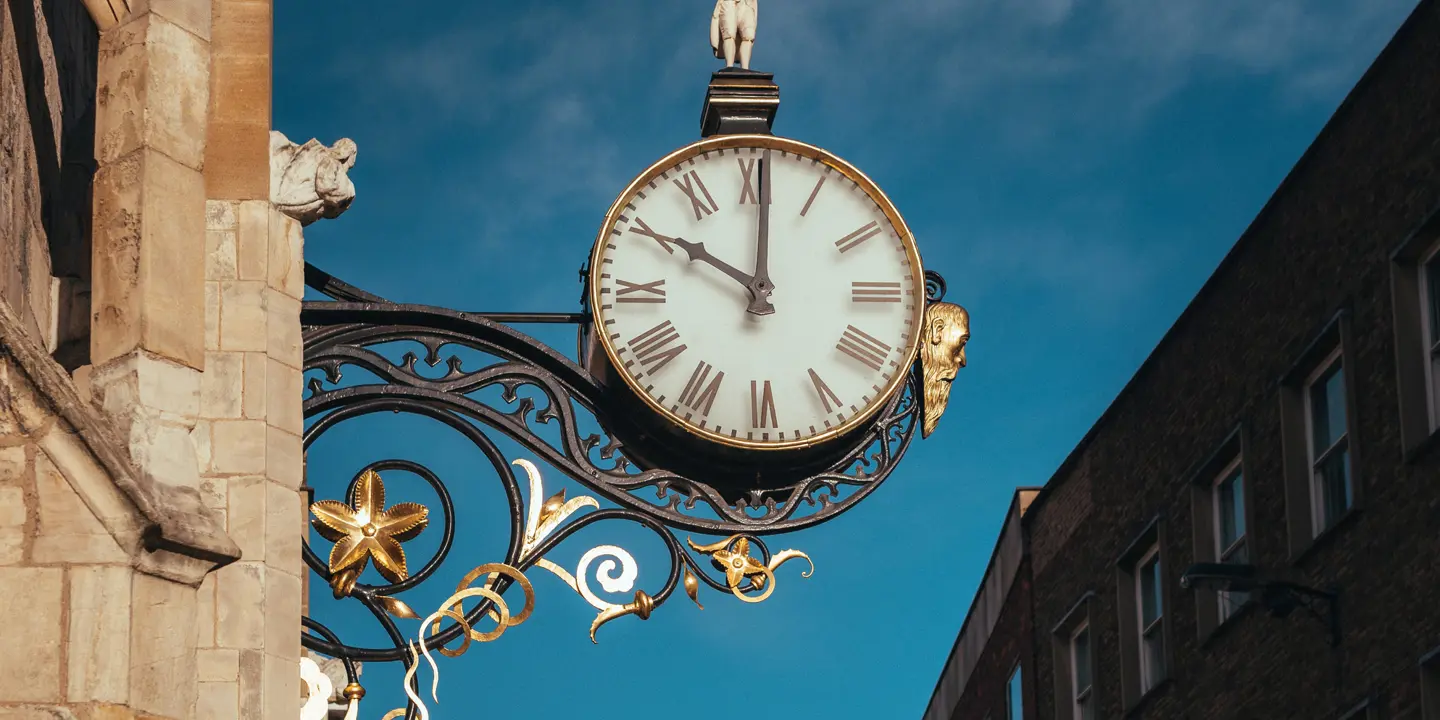
M 0 720 L 298 713 L 302 225 L 354 145 L 272 134 L 272 10 L 0 3 Z

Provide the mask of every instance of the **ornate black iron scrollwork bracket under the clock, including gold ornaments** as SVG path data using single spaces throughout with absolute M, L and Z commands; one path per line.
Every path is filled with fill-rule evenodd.
M 586 323 L 585 315 L 474 314 L 389 302 L 308 265 L 305 279 L 307 285 L 333 298 L 307 301 L 301 312 L 308 377 L 305 448 L 341 423 L 373 413 L 429 418 L 468 439 L 490 461 L 510 511 L 504 557 L 478 564 L 439 609 L 422 618 L 397 596 L 432 579 L 454 549 L 455 507 L 445 482 L 422 464 L 382 459 L 353 475 L 343 495 L 348 503 L 324 500 L 311 505 L 317 530 L 337 546 L 321 557 L 307 543 L 305 563 L 331 585 L 337 598 L 348 596 L 366 606 L 384 629 L 390 647 L 346 644 L 312 618 L 304 619 L 302 644 L 346 664 L 350 684 L 344 696 L 351 706 L 363 696 L 354 681 L 354 662 L 405 664 L 410 707 L 386 717 L 428 714 L 418 696 L 415 674 L 425 660 L 438 683 L 439 668 L 432 649 L 458 655 L 471 642 L 495 639 L 507 628 L 524 622 L 534 602 L 527 573 L 536 567 L 556 575 L 596 608 L 592 639 L 602 625 L 616 618 L 648 618 L 677 588 L 701 609 L 701 583 L 746 602 L 763 600 L 773 592 L 775 572 L 782 563 L 809 562 L 809 557 L 798 550 L 772 553 L 762 536 L 822 523 L 863 500 L 899 464 L 922 416 L 922 377 L 916 369 L 903 392 L 819 472 L 782 487 L 737 494 L 707 484 L 706 478 L 642 467 L 632 459 L 619 439 L 626 420 L 611 409 L 605 387 L 570 359 L 505 324 Z M 943 279 L 927 272 L 927 300 L 936 302 L 943 292 Z M 396 353 L 382 346 L 410 350 L 393 359 Z M 445 353 L 446 348 L 452 351 Z M 456 354 L 461 350 L 492 361 L 467 367 Z M 433 372 L 426 373 L 422 366 Z M 346 369 L 363 370 L 354 374 L 366 376 L 366 382 L 341 384 Z M 369 380 L 370 376 L 374 380 Z M 500 390 L 498 400 L 494 392 L 481 397 L 494 389 Z M 586 416 L 600 432 L 582 432 Z M 507 458 L 495 444 L 495 433 L 514 441 L 536 461 L 593 495 L 566 498 L 564 491 L 546 495 L 536 462 Z M 523 469 L 524 481 L 517 477 L 516 467 Z M 333 475 L 310 469 L 312 480 Z M 413 503 L 395 503 L 386 510 L 383 477 L 392 472 L 415 475 L 429 484 L 439 501 L 438 513 Z M 615 507 L 602 507 L 602 500 Z M 406 563 L 400 543 L 425 530 L 436 516 L 439 547 L 410 572 L 413 563 Z M 606 595 L 634 589 L 635 559 L 621 547 L 590 549 L 573 573 L 546 557 L 577 531 L 608 520 L 638 523 L 661 540 L 670 569 L 658 589 L 634 590 L 622 603 L 605 600 L 590 589 L 592 577 Z M 719 540 L 698 543 L 688 536 L 681 540 L 680 533 Z M 359 582 L 367 560 L 374 560 L 386 585 Z M 814 564 L 805 576 L 809 572 Z M 507 596 L 516 586 L 523 592 L 523 603 Z M 465 600 L 475 603 L 467 608 Z M 402 632 L 397 621 L 403 619 L 420 621 L 419 629 Z M 482 626 L 491 629 L 482 631 Z M 452 648 L 455 642 L 459 647 Z

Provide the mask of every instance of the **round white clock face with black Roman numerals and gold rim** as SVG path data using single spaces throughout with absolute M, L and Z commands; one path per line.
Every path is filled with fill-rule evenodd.
M 621 194 L 590 307 L 611 363 L 654 410 L 724 445 L 799 448 L 900 389 L 924 272 L 858 170 L 804 143 L 730 135 L 672 153 Z

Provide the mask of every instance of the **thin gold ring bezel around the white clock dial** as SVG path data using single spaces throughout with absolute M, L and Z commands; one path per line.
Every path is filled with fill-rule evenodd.
M 868 408 L 865 408 L 861 412 L 855 413 L 854 416 L 845 419 L 842 423 L 837 425 L 835 428 L 831 428 L 831 429 L 828 429 L 828 431 L 825 431 L 822 433 L 812 435 L 812 436 L 804 438 L 804 439 L 796 439 L 796 441 L 765 442 L 765 441 L 752 441 L 752 439 L 746 439 L 746 438 L 733 438 L 733 436 L 721 435 L 721 433 L 717 433 L 717 432 L 711 432 L 711 431 L 707 431 L 704 428 L 698 428 L 698 426 L 696 426 L 696 425 L 693 425 L 690 422 L 685 422 L 684 418 L 681 418 L 680 415 L 671 412 L 664 405 L 660 405 L 658 402 L 655 402 L 655 399 L 651 397 L 649 393 L 647 393 L 644 390 L 644 387 L 641 387 L 639 383 L 635 382 L 635 379 L 631 377 L 631 374 L 625 372 L 625 366 L 621 361 L 619 354 L 616 353 L 615 341 L 611 340 L 609 333 L 606 333 L 603 330 L 603 327 L 599 325 L 599 323 L 602 320 L 600 315 L 599 315 L 600 314 L 600 305 L 602 305 L 602 302 L 600 302 L 600 266 L 602 266 L 600 259 L 602 259 L 602 252 L 600 251 L 605 248 L 605 245 L 608 242 L 608 238 L 611 235 L 611 229 L 615 228 L 615 222 L 619 219 L 621 212 L 625 209 L 626 204 L 631 203 L 631 199 L 635 197 L 635 193 L 638 193 L 642 187 L 645 187 L 647 184 L 649 184 L 651 181 L 654 181 L 657 177 L 660 177 L 661 173 L 667 173 L 670 170 L 678 170 L 680 163 L 683 163 L 683 161 L 685 161 L 685 160 L 688 160 L 688 158 L 691 158 L 694 156 L 698 156 L 698 154 L 703 154 L 703 153 L 710 153 L 710 151 L 714 151 L 714 150 L 752 148 L 752 147 L 755 147 L 755 148 L 766 148 L 766 150 L 779 150 L 782 153 L 795 153 L 795 154 L 802 156 L 802 157 L 818 158 L 825 166 L 831 167 L 832 170 L 840 171 L 841 174 L 844 174 L 845 177 L 848 177 L 850 180 L 852 180 L 855 184 L 860 186 L 861 190 L 864 190 L 864 193 L 877 206 L 880 206 L 880 210 L 886 215 L 886 219 L 890 220 L 891 228 L 894 228 L 896 232 L 900 235 L 900 242 L 901 242 L 901 245 L 904 245 L 906 255 L 909 256 L 910 266 L 913 268 L 913 274 L 910 275 L 912 282 L 914 284 L 914 287 L 913 287 L 914 295 L 912 295 L 912 297 L 916 298 L 916 301 L 914 301 L 914 310 L 912 311 L 912 317 L 910 317 L 910 327 L 913 328 L 913 331 L 910 333 L 909 344 L 904 347 L 904 353 L 901 356 L 904 359 L 904 361 L 900 363 L 900 369 L 890 377 L 890 382 L 886 384 L 886 387 L 883 389 L 883 392 L 880 393 L 880 396 L 876 397 L 876 400 L 873 403 L 870 403 Z M 670 422 L 670 425 L 674 425 L 674 426 L 685 431 L 688 435 L 693 435 L 696 438 L 700 438 L 700 439 L 704 439 L 704 441 L 708 441 L 708 442 L 714 442 L 714 444 L 719 444 L 719 445 L 724 445 L 724 446 L 729 446 L 729 448 L 737 448 L 737 449 L 746 449 L 746 451 L 792 451 L 792 449 L 814 448 L 816 445 L 822 445 L 822 444 L 825 444 L 828 441 L 832 441 L 835 438 L 847 435 L 851 431 L 854 431 L 855 428 L 858 428 L 860 425 L 868 422 L 871 418 L 876 416 L 876 413 L 880 412 L 881 408 L 884 408 L 886 405 L 888 405 L 890 399 L 894 397 L 894 393 L 899 392 L 900 387 L 904 384 L 906 379 L 910 374 L 910 367 L 914 364 L 916 353 L 920 348 L 920 337 L 923 334 L 923 318 L 924 318 L 924 305 L 926 305 L 926 301 L 924 301 L 924 298 L 926 298 L 926 294 L 924 294 L 924 268 L 920 264 L 920 251 L 919 251 L 919 248 L 916 248 L 914 236 L 910 233 L 910 226 L 906 225 L 904 217 L 900 216 L 900 210 L 896 209 L 896 206 L 894 206 L 893 202 L 890 202 L 890 197 L 886 196 L 884 190 L 881 190 L 880 186 L 877 186 L 874 183 L 874 180 L 871 180 L 868 176 L 865 176 L 864 173 L 861 173 L 860 168 L 857 168 L 855 166 L 852 166 L 852 164 L 841 160 L 834 153 L 829 153 L 825 148 L 815 147 L 815 145 L 811 145 L 811 144 L 806 144 L 806 143 L 801 143 L 798 140 L 778 137 L 778 135 L 719 135 L 719 137 L 711 137 L 711 138 L 706 138 L 706 140 L 701 140 L 698 143 L 691 143 L 691 144 L 688 144 L 685 147 L 681 147 L 681 148 L 670 153 L 668 156 L 660 158 L 658 161 L 652 163 L 649 167 L 647 167 L 639 176 L 635 177 L 635 180 L 631 181 L 629 186 L 625 187 L 624 192 L 621 192 L 621 194 L 615 199 L 615 203 L 611 204 L 611 209 L 605 213 L 605 222 L 600 225 L 600 232 L 595 238 L 595 248 L 592 248 L 592 251 L 590 251 L 590 272 L 589 272 L 588 281 L 589 281 L 589 292 L 588 292 L 588 295 L 589 295 L 589 304 L 590 304 L 590 331 L 599 340 L 600 347 L 605 348 L 605 359 L 606 359 L 606 361 L 609 361 L 611 369 L 613 369 L 615 374 L 618 374 L 625 382 L 625 384 L 629 387 L 629 390 L 632 393 L 635 393 L 636 396 L 639 396 L 639 399 L 644 400 L 644 403 L 651 410 L 655 410 L 657 413 L 660 413 L 667 422 Z

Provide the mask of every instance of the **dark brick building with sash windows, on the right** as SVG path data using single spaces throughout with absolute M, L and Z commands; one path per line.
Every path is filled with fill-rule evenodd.
M 926 720 L 1440 719 L 1437 210 L 1423 0 L 1012 505 Z M 1181 583 L 1221 562 L 1260 585 Z M 1279 582 L 1338 593 L 1338 647 L 1331 605 L 1286 608 Z

